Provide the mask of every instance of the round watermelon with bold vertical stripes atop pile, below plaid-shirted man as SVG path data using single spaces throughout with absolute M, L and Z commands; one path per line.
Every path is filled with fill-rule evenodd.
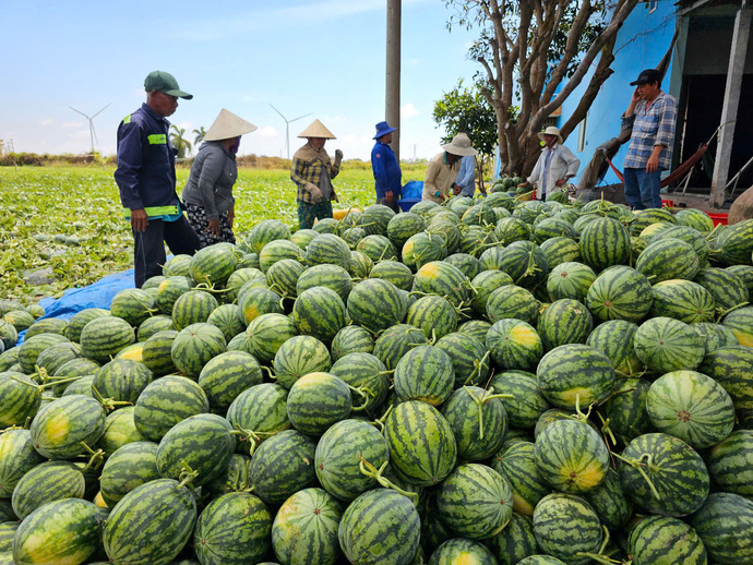
M 617 219 L 602 217 L 589 221 L 581 231 L 581 256 L 595 271 L 624 265 L 630 260 L 630 233 Z

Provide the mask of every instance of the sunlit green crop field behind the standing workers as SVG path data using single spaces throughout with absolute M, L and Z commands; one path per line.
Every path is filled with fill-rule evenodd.
M 335 179 L 339 205 L 373 203 L 370 167 L 355 161 Z M 422 180 L 425 165 L 405 166 L 403 181 Z M 131 267 L 133 239 L 123 219 L 113 168 L 0 169 L 0 299 L 23 302 L 89 285 Z M 189 169 L 178 169 L 182 189 Z M 241 168 L 236 184 L 236 233 L 266 218 L 298 223 L 296 188 L 284 169 Z M 24 277 L 40 272 L 48 284 Z

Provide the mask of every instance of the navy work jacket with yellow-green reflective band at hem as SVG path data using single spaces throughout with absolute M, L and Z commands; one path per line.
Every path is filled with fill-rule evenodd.
M 170 122 L 143 104 L 118 127 L 118 168 L 115 181 L 125 208 L 145 209 L 150 217 L 179 212 L 176 155 Z M 175 209 L 174 209 L 175 208 Z

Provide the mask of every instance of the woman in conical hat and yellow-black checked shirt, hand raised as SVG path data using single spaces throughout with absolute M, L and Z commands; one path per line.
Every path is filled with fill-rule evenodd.
M 311 122 L 298 136 L 308 141 L 292 156 L 290 179 L 298 187 L 298 227 L 308 229 L 315 219 L 332 217 L 332 201 L 337 202 L 332 179 L 339 172 L 343 152 L 335 151 L 334 163 L 330 159 L 324 144 L 336 137 L 319 120 Z

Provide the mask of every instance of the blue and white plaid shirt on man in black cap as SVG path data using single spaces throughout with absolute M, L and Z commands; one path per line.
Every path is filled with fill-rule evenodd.
M 660 92 L 647 108 L 646 100 L 635 105 L 632 116 L 622 116 L 622 127 L 633 128 L 628 155 L 622 164 L 624 168 L 643 169 L 652 156 L 654 147 L 664 146 L 659 154 L 659 168 L 669 170 L 672 167 L 672 144 L 674 128 L 678 121 L 678 103 L 669 94 Z

